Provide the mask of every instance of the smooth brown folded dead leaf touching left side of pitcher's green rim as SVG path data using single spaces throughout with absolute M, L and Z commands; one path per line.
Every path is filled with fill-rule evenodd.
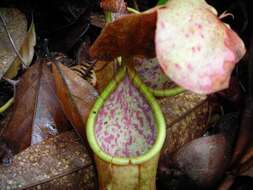
M 58 61 L 52 63 L 52 69 L 56 93 L 66 117 L 86 142 L 85 123 L 98 94 L 86 80 Z

